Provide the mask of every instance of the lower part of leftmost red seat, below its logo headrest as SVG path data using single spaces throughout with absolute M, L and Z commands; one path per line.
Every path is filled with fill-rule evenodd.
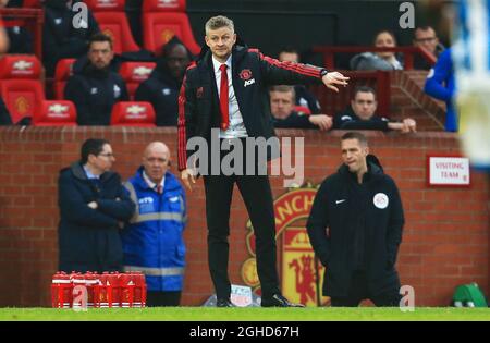
M 36 106 L 45 100 L 42 84 L 38 79 L 4 79 L 0 83 L 0 93 L 12 122 L 33 118 Z

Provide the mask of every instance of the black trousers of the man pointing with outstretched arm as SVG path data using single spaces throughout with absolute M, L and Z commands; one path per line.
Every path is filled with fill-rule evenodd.
M 279 293 L 275 256 L 275 221 L 268 175 L 204 176 L 208 224 L 208 261 L 218 298 L 229 298 L 228 277 L 230 205 L 236 183 L 252 220 L 257 272 L 264 297 Z

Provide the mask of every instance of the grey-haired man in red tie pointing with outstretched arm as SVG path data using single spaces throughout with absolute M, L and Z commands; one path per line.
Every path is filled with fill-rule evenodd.
M 329 73 L 320 68 L 279 62 L 262 56 L 256 49 L 235 45 L 233 22 L 225 16 L 211 17 L 205 29 L 209 49 L 204 47 L 197 63 L 187 69 L 179 97 L 179 170 L 189 191 L 195 183 L 193 161 L 187 161 L 187 154 L 193 152 L 192 143 L 205 140 L 212 146 L 212 142 L 219 139 L 222 145 L 233 145 L 238 149 L 237 146 L 243 147 L 247 138 L 267 140 L 274 136 L 269 86 L 321 79 L 327 87 L 338 90 L 335 86 L 345 86 L 348 79 L 340 73 Z M 258 166 L 261 161 L 258 158 L 247 160 L 247 154 L 242 150 L 243 154 L 235 160 L 235 164 L 242 163 L 242 170 L 230 174 L 220 168 L 221 162 L 225 162 L 225 147 L 221 151 L 218 148 L 217 154 L 212 151 L 212 174 L 205 168 L 199 168 L 200 173 L 205 174 L 208 261 L 218 297 L 217 306 L 232 306 L 228 277 L 228 236 L 235 182 L 256 235 L 261 306 L 294 306 L 279 290 L 272 192 L 267 174 L 256 173 L 257 168 L 262 167 Z M 189 155 L 191 159 L 194 156 Z M 215 168 L 218 169 L 217 173 L 213 172 Z M 250 169 L 254 171 L 250 172 Z M 246 174 L 243 173 L 245 170 Z

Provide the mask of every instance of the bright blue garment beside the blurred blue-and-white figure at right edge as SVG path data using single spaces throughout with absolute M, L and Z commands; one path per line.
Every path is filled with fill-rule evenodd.
M 427 75 L 424 91 L 431 97 L 445 101 L 445 131 L 457 132 L 457 112 L 453 103 L 455 99 L 454 68 L 451 59 L 451 48 L 445 49 Z

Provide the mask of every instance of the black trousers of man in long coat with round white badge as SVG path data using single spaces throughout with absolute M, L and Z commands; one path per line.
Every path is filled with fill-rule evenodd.
M 354 273 L 347 296 L 331 297 L 332 307 L 357 307 L 364 299 L 370 299 L 376 306 L 400 306 L 402 295 L 399 289 L 392 289 L 380 294 L 369 294 L 367 289 L 366 273 L 357 271 Z

